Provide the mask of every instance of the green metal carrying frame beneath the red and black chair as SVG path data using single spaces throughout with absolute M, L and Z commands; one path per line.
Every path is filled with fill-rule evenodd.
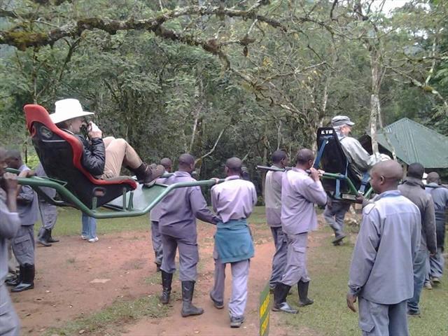
M 8 172 L 18 173 L 18 171 L 15 169 L 7 169 L 7 170 Z M 175 189 L 195 187 L 195 186 L 200 187 L 214 186 L 215 184 L 221 183 L 223 181 L 224 181 L 223 179 L 220 180 L 210 179 L 204 181 L 179 182 L 169 186 L 165 184 L 156 183 L 154 186 L 142 189 L 144 203 L 146 204 L 144 208 L 134 209 L 132 201 L 133 191 L 128 191 L 127 193 L 123 193 L 123 207 L 119 208 L 108 206 L 107 204 L 105 204 L 104 207 L 108 209 L 113 209 L 112 211 L 105 211 L 102 208 L 94 207 L 94 209 L 89 209 L 88 207 L 86 207 L 85 204 L 83 204 L 83 202 L 81 202 L 78 199 L 78 197 L 73 195 L 73 193 L 71 193 L 70 190 L 68 190 L 65 187 L 66 182 L 64 181 L 57 181 L 55 179 L 37 177 L 37 176 L 18 178 L 18 183 L 22 186 L 30 186 L 36 191 L 38 190 L 38 188 L 41 187 L 52 188 L 55 189 L 56 192 L 64 200 L 69 200 L 70 202 L 70 204 L 66 204 L 65 202 L 55 200 L 54 202 L 55 205 L 59 206 L 70 205 L 71 207 L 75 207 L 76 209 L 83 211 L 83 213 L 85 213 L 87 216 L 99 219 L 143 216 L 145 214 L 148 214 L 148 212 L 151 211 L 153 207 L 155 207 L 155 204 L 158 204 L 158 202 L 160 202 L 166 195 L 168 195 Z M 129 198 L 127 197 L 127 195 L 129 195 Z M 95 204 L 96 202 L 93 203 Z

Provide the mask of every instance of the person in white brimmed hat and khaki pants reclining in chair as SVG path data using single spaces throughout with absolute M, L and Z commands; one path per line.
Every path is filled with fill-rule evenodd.
M 50 114 L 50 119 L 64 132 L 78 137 L 83 144 L 81 164 L 93 176 L 98 179 L 120 176 L 121 167 L 124 165 L 137 176 L 137 180 L 148 186 L 165 172 L 162 166 L 152 169 L 143 162 L 125 139 L 103 139 L 102 131 L 92 122 L 87 126 L 89 139 L 80 135 L 85 116 L 94 113 L 83 111 L 78 99 L 62 99 L 55 102 L 55 106 L 55 113 Z

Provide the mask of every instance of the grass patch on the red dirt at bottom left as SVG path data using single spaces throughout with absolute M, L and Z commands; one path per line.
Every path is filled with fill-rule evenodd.
M 120 335 L 123 325 L 148 316 L 162 318 L 167 316 L 169 307 L 160 304 L 156 295 L 140 297 L 137 300 L 117 300 L 109 307 L 89 316 L 76 318 L 59 328 L 48 328 L 43 336 L 78 335 Z

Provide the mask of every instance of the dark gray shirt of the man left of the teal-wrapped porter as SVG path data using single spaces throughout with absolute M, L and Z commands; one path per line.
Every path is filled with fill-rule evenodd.
M 175 172 L 165 180 L 165 184 L 192 181 L 195 179 L 187 172 Z M 219 221 L 207 208 L 198 186 L 173 190 L 160 202 L 159 230 L 162 235 L 195 240 L 196 218 L 212 224 Z

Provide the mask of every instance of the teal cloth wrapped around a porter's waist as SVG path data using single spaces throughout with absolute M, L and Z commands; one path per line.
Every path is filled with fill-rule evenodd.
M 218 222 L 216 226 L 215 246 L 223 264 L 253 257 L 253 241 L 246 219 Z

